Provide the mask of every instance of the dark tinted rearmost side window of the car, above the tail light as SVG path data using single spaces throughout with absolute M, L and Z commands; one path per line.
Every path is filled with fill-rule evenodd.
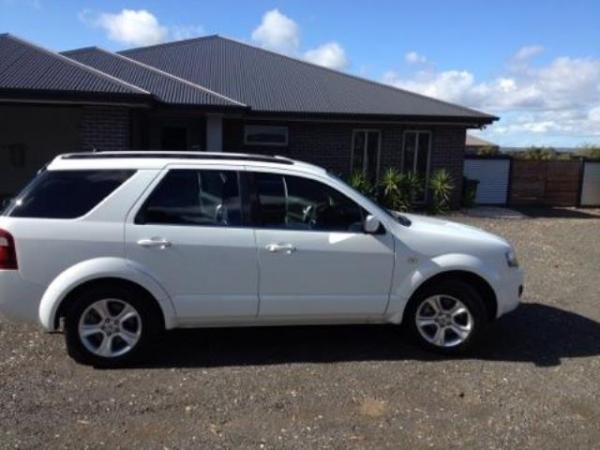
M 41 173 L 11 202 L 10 217 L 74 219 L 90 212 L 133 170 L 52 170 Z

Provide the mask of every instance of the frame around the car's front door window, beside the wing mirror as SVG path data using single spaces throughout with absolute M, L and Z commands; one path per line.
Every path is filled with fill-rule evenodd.
M 247 168 L 244 172 L 243 172 L 243 176 L 247 177 L 247 183 L 248 183 L 248 200 L 249 200 L 249 218 L 251 220 L 251 226 L 256 229 L 256 230 L 269 230 L 269 231 L 287 231 L 287 232 L 298 232 L 298 233 L 348 233 L 348 234 L 358 234 L 358 235 L 368 235 L 368 234 L 373 234 L 373 233 L 367 233 L 364 228 L 361 229 L 360 231 L 350 231 L 350 230 L 314 230 L 314 229 L 296 229 L 296 228 L 285 228 L 285 227 L 273 227 L 273 226 L 263 226 L 262 225 L 262 217 L 261 217 L 261 205 L 258 199 L 258 186 L 255 180 L 254 175 L 256 173 L 264 173 L 264 174 L 268 174 L 268 175 L 278 175 L 278 176 L 282 176 L 282 177 L 286 177 L 286 176 L 290 176 L 290 177 L 297 177 L 297 178 L 303 178 L 305 180 L 309 180 L 312 182 L 316 182 L 316 183 L 320 183 L 330 189 L 333 189 L 335 192 L 337 192 L 339 195 L 344 196 L 348 201 L 354 203 L 358 208 L 360 208 L 361 210 L 361 215 L 362 215 L 362 222 L 364 224 L 364 220 L 366 218 L 366 215 L 369 214 L 373 214 L 372 212 L 370 212 L 366 207 L 364 207 L 363 205 L 361 205 L 360 202 L 356 201 L 355 199 L 353 199 L 350 195 L 346 194 L 345 192 L 341 191 L 340 189 L 338 189 L 336 186 L 332 186 L 330 183 L 327 183 L 325 180 L 320 179 L 320 178 L 314 178 L 314 177 L 310 177 L 307 176 L 306 174 L 303 173 L 290 173 L 290 172 L 279 172 L 279 171 L 272 171 L 272 170 L 257 170 L 258 168 Z M 287 188 L 286 188 L 287 189 Z M 286 192 L 287 195 L 287 192 Z M 376 216 L 377 217 L 377 216 Z M 387 230 L 386 227 L 383 225 L 383 223 L 381 224 L 381 232 L 375 233 L 375 234 L 386 234 Z

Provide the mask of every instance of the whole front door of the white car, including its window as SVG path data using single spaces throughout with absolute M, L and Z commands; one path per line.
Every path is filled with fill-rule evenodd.
M 368 214 L 324 181 L 253 172 L 252 216 L 260 268 L 259 316 L 294 321 L 384 314 L 394 238 L 367 234 Z

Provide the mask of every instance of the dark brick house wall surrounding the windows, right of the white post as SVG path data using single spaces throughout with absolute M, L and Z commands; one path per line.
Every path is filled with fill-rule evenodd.
M 246 123 L 252 123 L 247 121 Z M 244 121 L 227 119 L 223 123 L 223 148 L 226 151 L 279 154 L 323 166 L 333 173 L 349 175 L 352 148 L 352 131 L 357 128 L 381 130 L 380 174 L 388 167 L 402 166 L 402 141 L 404 131 L 427 130 L 432 133 L 431 173 L 446 168 L 455 182 L 452 206 L 460 205 L 463 159 L 465 150 L 464 127 L 456 126 L 410 126 L 361 123 L 317 122 L 256 122 L 261 125 L 284 125 L 288 127 L 287 147 L 244 145 Z

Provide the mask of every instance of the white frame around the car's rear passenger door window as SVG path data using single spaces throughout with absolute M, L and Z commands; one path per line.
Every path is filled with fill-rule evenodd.
M 179 170 L 189 170 L 194 172 L 234 172 L 237 177 L 237 186 L 238 186 L 238 194 L 240 197 L 240 212 L 241 212 L 241 223 L 240 225 L 214 225 L 214 224 L 196 224 L 196 223 L 156 223 L 156 222 L 146 222 L 143 220 L 139 220 L 138 218 L 141 216 L 142 211 L 146 208 L 148 202 L 150 201 L 152 194 L 156 192 L 165 178 L 168 176 L 171 171 L 179 171 Z M 242 167 L 195 167 L 192 165 L 189 166 L 168 166 L 165 167 L 161 173 L 153 180 L 152 183 L 148 186 L 147 190 L 144 193 L 144 196 L 136 202 L 136 206 L 133 208 L 133 214 L 131 214 L 130 222 L 136 226 L 165 226 L 165 227 L 198 227 L 198 228 L 248 228 L 252 227 L 249 215 L 249 200 L 248 200 L 248 187 L 245 180 L 243 180 L 244 169 Z

